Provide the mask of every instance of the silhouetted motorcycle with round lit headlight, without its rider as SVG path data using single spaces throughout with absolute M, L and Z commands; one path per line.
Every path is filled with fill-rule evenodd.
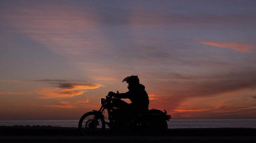
M 144 113 L 134 113 L 124 119 L 118 115 L 122 111 L 121 106 L 128 103 L 111 95 L 101 98 L 100 103 L 101 107 L 98 111 L 87 112 L 80 118 L 78 128 L 82 135 L 102 135 L 106 124 L 116 133 L 124 131 L 143 133 L 143 135 L 164 135 L 168 128 L 166 120 L 171 119 L 171 115 L 167 115 L 166 110 L 162 112 L 154 108 Z M 109 122 L 105 122 L 104 119 L 105 109 L 108 112 Z

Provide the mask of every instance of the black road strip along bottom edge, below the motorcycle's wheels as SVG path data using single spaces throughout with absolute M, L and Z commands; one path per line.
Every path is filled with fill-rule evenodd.
M 1 143 L 255 143 L 256 136 L 0 136 Z

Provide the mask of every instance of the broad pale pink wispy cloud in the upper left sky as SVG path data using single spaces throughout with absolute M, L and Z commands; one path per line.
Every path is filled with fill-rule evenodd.
M 93 48 L 87 48 L 100 42 L 99 36 L 92 38 L 97 31 L 97 18 L 92 8 L 64 6 L 54 2 L 51 5 L 42 3 L 35 6 L 25 3 L 12 7 L 16 14 L 0 15 L 9 22 L 8 27 L 15 27 L 15 30 L 6 32 L 26 33 L 61 55 L 94 52 Z

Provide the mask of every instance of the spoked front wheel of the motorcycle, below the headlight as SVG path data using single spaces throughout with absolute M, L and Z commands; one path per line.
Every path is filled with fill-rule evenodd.
M 96 114 L 96 112 L 88 112 L 80 118 L 78 128 L 82 135 L 101 135 L 104 132 L 105 120 L 103 116 L 92 122 Z

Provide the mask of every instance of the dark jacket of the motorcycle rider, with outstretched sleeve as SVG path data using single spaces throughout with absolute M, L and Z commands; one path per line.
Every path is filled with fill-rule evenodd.
M 148 107 L 149 105 L 148 94 L 142 84 L 134 85 L 128 92 L 116 94 L 115 97 L 128 98 L 135 106 Z

